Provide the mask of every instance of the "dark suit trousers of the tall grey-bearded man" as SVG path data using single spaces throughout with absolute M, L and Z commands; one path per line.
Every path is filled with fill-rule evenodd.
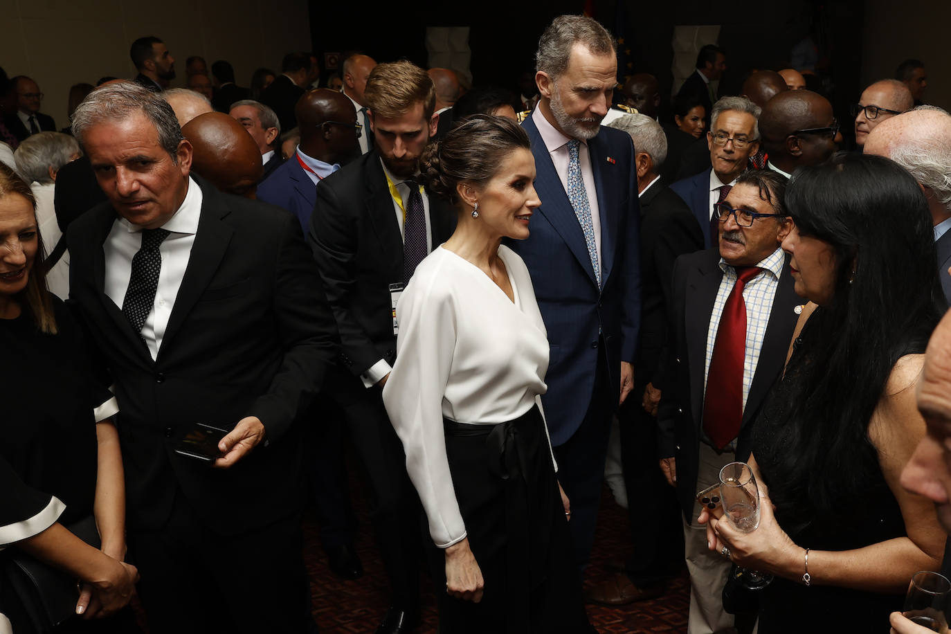
M 558 461 L 558 481 L 572 504 L 569 527 L 572 530 L 574 563 L 582 570 L 588 565 L 594 545 L 604 463 L 611 437 L 611 413 L 617 407 L 617 403 L 612 402 L 611 394 L 614 392 L 608 386 L 608 363 L 602 339 L 598 346 L 594 390 L 585 419 L 568 442 L 554 448 L 554 457 Z

